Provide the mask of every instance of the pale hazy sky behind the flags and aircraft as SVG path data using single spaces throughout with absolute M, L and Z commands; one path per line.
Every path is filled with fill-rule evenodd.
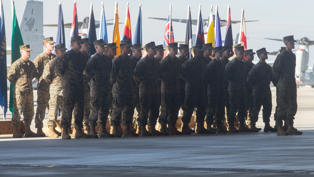
M 20 21 L 25 0 L 15 0 L 15 9 L 18 21 Z M 43 0 L 44 2 L 44 24 L 53 24 L 58 21 L 58 0 Z M 72 0 L 61 0 L 63 9 L 64 23 L 72 22 L 73 3 Z M 106 19 L 113 19 L 115 1 L 111 0 L 77 0 L 78 21 L 89 16 L 90 3 L 94 6 L 95 20 L 100 20 L 101 3 L 105 3 Z M 148 19 L 148 17 L 167 18 L 169 13 L 169 5 L 172 5 L 172 18 L 186 19 L 187 6 L 191 6 L 192 19 L 197 19 L 198 6 L 202 5 L 202 17 L 208 19 L 210 6 L 213 7 L 215 14 L 215 6 L 218 5 L 220 19 L 227 19 L 227 6 L 231 8 L 231 20 L 241 20 L 241 8 L 244 8 L 244 16 L 246 20 L 259 20 L 257 22 L 246 23 L 247 48 L 254 51 L 266 47 L 268 52 L 277 51 L 283 42 L 271 41 L 264 38 L 278 38 L 283 36 L 294 35 L 295 39 L 308 37 L 314 40 L 313 16 L 314 1 L 289 1 L 289 0 L 264 0 L 264 1 L 188 1 L 188 0 L 172 0 L 170 1 L 142 1 L 142 0 L 118 0 L 120 38 L 122 38 L 124 30 L 124 21 L 126 14 L 126 3 L 129 2 L 132 37 L 135 32 L 135 25 L 138 17 L 138 5 L 142 3 L 142 30 L 143 44 L 155 41 L 156 45 L 163 44 L 166 21 Z M 192 3 L 197 2 L 197 3 Z M 12 31 L 12 12 L 11 1 L 3 0 L 7 45 L 11 45 Z M 112 22 L 112 21 L 111 21 Z M 186 24 L 173 22 L 173 31 L 175 41 L 185 40 Z M 193 34 L 196 34 L 196 26 L 193 25 Z M 113 26 L 107 26 L 108 40 L 112 41 Z M 207 28 L 204 27 L 204 31 Z M 235 38 L 239 33 L 240 24 L 232 24 L 232 33 Z M 225 38 L 226 26 L 221 27 L 222 40 Z M 81 30 L 79 30 L 81 32 Z M 96 30 L 98 36 L 98 29 Z M 70 29 L 65 29 L 66 41 L 69 38 Z M 56 27 L 44 27 L 45 37 L 57 36 Z M 195 41 L 193 41 L 195 44 Z M 296 46 L 298 48 L 298 46 Z M 312 47 L 310 47 L 310 50 Z M 313 55 L 310 54 L 309 65 L 313 64 Z M 275 56 L 269 56 L 269 60 L 273 60 Z M 258 58 L 256 57 L 255 60 Z

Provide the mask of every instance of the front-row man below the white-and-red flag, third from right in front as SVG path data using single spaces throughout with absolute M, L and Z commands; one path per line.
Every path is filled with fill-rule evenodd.
M 228 118 L 229 133 L 252 132 L 245 126 L 245 110 L 246 110 L 246 66 L 242 61 L 244 55 L 244 46 L 235 47 L 236 58 L 226 65 L 225 80 L 229 83 L 229 102 L 230 112 Z M 238 112 L 239 130 L 234 127 L 236 122 L 236 113 Z

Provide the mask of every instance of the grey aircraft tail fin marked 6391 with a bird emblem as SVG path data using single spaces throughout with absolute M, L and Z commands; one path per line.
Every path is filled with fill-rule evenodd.
M 29 44 L 33 50 L 30 51 L 31 61 L 44 51 L 42 44 L 42 38 L 44 38 L 43 21 L 43 2 L 26 1 L 19 27 L 24 44 Z

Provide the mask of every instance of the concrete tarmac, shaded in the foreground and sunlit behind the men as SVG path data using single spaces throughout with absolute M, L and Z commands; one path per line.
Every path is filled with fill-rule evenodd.
M 274 113 L 273 87 L 272 93 Z M 71 140 L 0 136 L 0 176 L 314 176 L 313 99 L 313 88 L 298 88 L 300 136 L 263 131 Z M 261 114 L 257 127 L 263 128 Z

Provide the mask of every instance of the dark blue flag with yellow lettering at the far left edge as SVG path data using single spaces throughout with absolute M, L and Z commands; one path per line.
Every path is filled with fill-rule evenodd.
M 7 85 L 7 45 L 5 38 L 5 28 L 4 28 L 4 13 L 2 0 L 0 0 L 0 106 L 3 108 L 3 119 L 7 114 L 8 109 L 8 85 Z

